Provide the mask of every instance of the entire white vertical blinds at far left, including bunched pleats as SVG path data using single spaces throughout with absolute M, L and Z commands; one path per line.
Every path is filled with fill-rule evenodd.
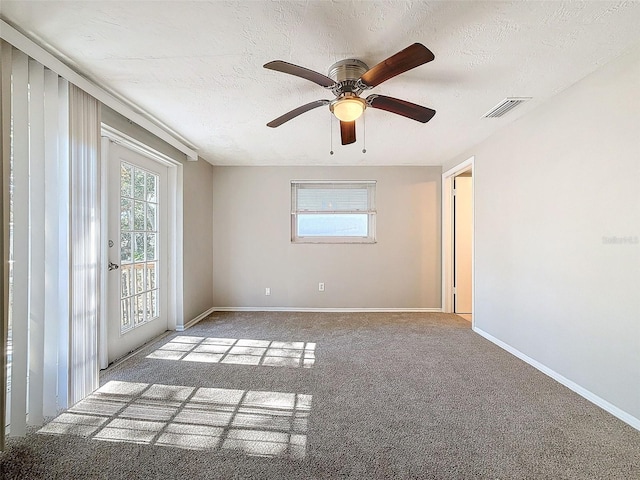
M 4 42 L 1 96 L 10 138 L 2 417 L 19 436 L 98 386 L 100 107 Z

